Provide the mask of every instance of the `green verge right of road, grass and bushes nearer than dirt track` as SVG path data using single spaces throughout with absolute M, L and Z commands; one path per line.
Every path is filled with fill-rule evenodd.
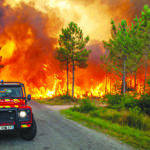
M 79 107 L 75 106 L 62 113 L 70 119 L 116 136 L 135 147 L 149 148 L 150 117 L 144 113 L 145 109 L 143 111 L 137 106 L 144 103 L 143 96 L 140 100 L 136 100 L 128 95 L 107 95 L 107 99 L 109 103 L 107 108 L 97 107 L 90 100 L 84 99 Z

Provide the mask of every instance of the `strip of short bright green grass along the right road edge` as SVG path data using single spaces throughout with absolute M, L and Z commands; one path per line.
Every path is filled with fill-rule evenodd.
M 62 110 L 61 113 L 68 119 L 72 119 L 89 128 L 117 137 L 117 139 L 135 148 L 150 149 L 149 131 L 142 131 L 127 125 L 121 126 L 108 120 L 91 117 L 89 114 L 72 111 L 71 109 Z

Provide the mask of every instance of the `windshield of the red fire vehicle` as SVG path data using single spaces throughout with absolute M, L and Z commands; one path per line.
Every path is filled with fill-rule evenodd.
M 22 97 L 21 87 L 0 87 L 0 97 Z

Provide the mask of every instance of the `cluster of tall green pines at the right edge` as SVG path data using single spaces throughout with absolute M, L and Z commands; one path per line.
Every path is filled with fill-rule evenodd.
M 145 68 L 143 90 L 145 92 L 148 66 L 150 59 L 150 8 L 144 6 L 141 17 L 136 17 L 131 25 L 122 20 L 118 26 L 111 21 L 111 38 L 103 41 L 108 55 L 101 57 L 105 64 L 106 74 L 116 74 L 122 80 L 121 92 L 126 92 L 126 74 L 135 77 L 135 90 L 137 71 Z

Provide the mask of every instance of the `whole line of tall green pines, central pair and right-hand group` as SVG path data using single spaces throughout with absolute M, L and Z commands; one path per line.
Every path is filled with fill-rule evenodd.
M 111 38 L 103 41 L 104 47 L 109 52 L 101 57 L 103 62 L 106 81 L 107 74 L 116 74 L 122 80 L 121 92 L 126 92 L 126 74 L 134 74 L 135 90 L 137 71 L 140 67 L 145 68 L 144 92 L 147 82 L 148 66 L 150 59 L 150 8 L 144 6 L 141 17 L 136 17 L 131 25 L 122 20 L 118 26 L 111 21 Z M 89 36 L 84 37 L 80 27 L 71 22 L 59 36 L 59 46 L 56 50 L 56 59 L 67 70 L 67 95 L 69 94 L 69 68 L 72 69 L 72 97 L 74 97 L 75 68 L 86 68 L 91 50 L 85 48 Z M 106 83 L 107 84 L 107 83 Z M 107 90 L 107 87 L 105 87 Z M 106 92 L 107 93 L 107 92 Z

